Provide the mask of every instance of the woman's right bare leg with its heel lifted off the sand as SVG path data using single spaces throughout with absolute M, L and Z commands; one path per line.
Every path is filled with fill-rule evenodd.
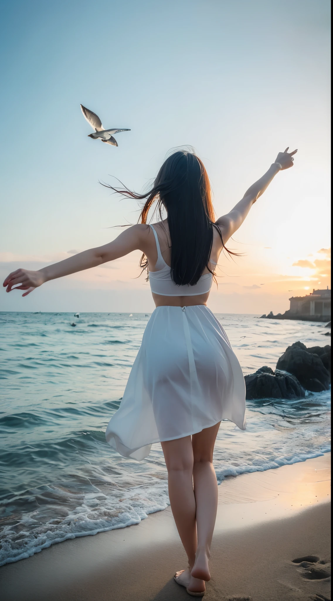
M 220 423 L 192 436 L 193 483 L 196 498 L 197 551 L 191 575 L 211 579 L 208 560 L 217 513 L 217 480 L 212 464 L 215 439 Z

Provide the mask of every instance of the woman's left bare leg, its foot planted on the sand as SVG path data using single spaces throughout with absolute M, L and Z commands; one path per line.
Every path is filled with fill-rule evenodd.
M 193 578 L 190 573 L 196 560 L 197 549 L 191 436 L 185 436 L 175 441 L 161 442 L 161 445 L 168 471 L 170 505 L 190 566 L 190 570 L 185 570 L 182 581 L 184 581 L 184 586 L 193 592 L 204 591 L 205 582 L 202 579 Z

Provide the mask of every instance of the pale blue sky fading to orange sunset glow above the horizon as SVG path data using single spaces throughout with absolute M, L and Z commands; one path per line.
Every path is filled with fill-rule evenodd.
M 0 276 L 100 246 L 137 221 L 100 185 L 149 185 L 172 148 L 205 163 L 217 217 L 298 148 L 221 255 L 217 313 L 283 313 L 330 286 L 329 2 L 142 0 L 1 6 Z M 88 138 L 80 103 L 116 135 Z M 0 293 L 2 311 L 152 311 L 140 252 Z

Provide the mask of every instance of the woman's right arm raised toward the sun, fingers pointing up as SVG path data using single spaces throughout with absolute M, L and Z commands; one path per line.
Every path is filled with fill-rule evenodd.
M 272 163 L 265 175 L 260 177 L 260 180 L 248 188 L 242 200 L 233 207 L 230 213 L 223 215 L 223 217 L 220 217 L 220 219 L 217 220 L 216 224 L 220 228 L 224 243 L 226 243 L 230 236 L 241 227 L 251 206 L 256 202 L 257 198 L 265 192 L 278 171 L 281 171 L 281 169 L 289 169 L 289 167 L 293 166 L 293 154 L 295 154 L 297 150 L 294 150 L 291 153 L 287 152 L 287 150 L 288 148 L 286 148 L 284 152 L 279 152 L 275 163 Z

